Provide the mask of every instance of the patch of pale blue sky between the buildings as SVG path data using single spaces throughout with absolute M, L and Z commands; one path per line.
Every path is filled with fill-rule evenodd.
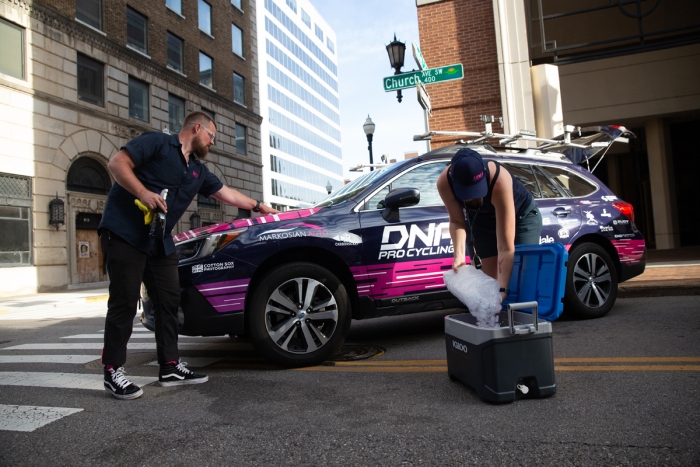
M 343 176 L 354 179 L 361 173 L 348 169 L 369 163 L 367 137 L 362 129 L 367 115 L 376 125 L 372 141 L 375 164 L 380 162 L 382 154 L 402 160 L 406 152 L 426 152 L 425 142 L 413 141 L 413 135 L 425 131 L 424 111 L 418 104 L 416 91 L 404 89 L 399 104 L 396 92 L 384 92 L 382 84 L 382 78 L 394 74 L 386 51 L 394 33 L 406 43 L 402 70 L 418 68 L 411 52 L 411 42 L 420 45 L 415 0 L 311 0 L 311 3 L 336 34 Z

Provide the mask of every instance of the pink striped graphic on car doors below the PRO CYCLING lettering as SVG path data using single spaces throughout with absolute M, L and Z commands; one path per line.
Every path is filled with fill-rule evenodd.
M 372 264 L 352 267 L 350 272 L 357 283 L 358 295 L 375 299 L 400 297 L 444 289 L 442 275 L 452 268 L 452 260 L 449 257 Z

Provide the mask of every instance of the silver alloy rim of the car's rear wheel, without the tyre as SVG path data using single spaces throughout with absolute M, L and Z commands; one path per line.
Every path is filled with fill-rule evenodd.
M 573 273 L 573 286 L 579 301 L 589 308 L 600 308 L 607 303 L 612 290 L 612 276 L 605 260 L 595 254 L 582 255 Z

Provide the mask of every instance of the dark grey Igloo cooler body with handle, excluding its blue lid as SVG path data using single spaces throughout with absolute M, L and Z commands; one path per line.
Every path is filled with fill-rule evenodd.
M 532 309 L 532 314 L 516 310 Z M 537 302 L 513 303 L 500 327 L 483 328 L 469 313 L 445 317 L 447 371 L 488 402 L 546 397 L 554 381 L 552 324 L 537 317 Z

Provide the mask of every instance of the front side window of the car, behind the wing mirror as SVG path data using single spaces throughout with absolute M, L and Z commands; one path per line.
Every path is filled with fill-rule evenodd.
M 417 188 L 420 191 L 420 202 L 416 206 L 441 205 L 442 199 L 437 191 L 437 179 L 448 165 L 449 161 L 441 161 L 421 165 L 405 172 L 372 196 L 367 203 L 367 209 L 383 209 L 384 198 L 391 190 L 397 188 Z

